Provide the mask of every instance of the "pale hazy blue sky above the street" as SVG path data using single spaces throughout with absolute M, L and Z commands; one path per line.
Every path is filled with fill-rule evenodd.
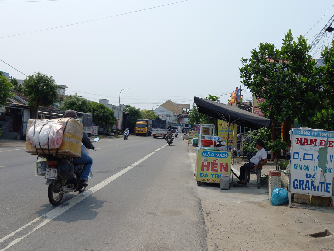
M 194 96 L 209 94 L 226 104 L 241 85 L 241 58 L 260 43 L 280 48 L 289 29 L 312 44 L 333 6 L 332 0 L 0 0 L 0 71 L 16 79 L 41 72 L 67 86 L 66 94 L 140 109 L 168 99 L 192 106 Z M 320 58 L 332 38 L 326 33 L 312 57 Z

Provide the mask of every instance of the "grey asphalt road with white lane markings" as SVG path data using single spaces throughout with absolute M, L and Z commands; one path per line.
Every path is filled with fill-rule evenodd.
M 0 149 L 0 250 L 207 250 L 186 141 L 130 136 L 95 143 L 83 193 L 47 198 L 36 156 Z

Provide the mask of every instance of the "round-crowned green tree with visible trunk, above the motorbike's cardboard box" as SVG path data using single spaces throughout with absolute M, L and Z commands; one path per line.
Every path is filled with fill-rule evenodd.
M 28 105 L 33 118 L 37 118 L 39 107 L 47 107 L 58 101 L 58 86 L 52 76 L 34 72 L 23 81 L 23 94 L 29 97 Z

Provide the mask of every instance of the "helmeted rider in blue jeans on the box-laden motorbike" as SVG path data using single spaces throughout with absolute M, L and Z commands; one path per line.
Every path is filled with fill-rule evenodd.
M 76 112 L 71 109 L 65 111 L 64 113 L 64 118 L 76 118 L 76 117 L 77 117 Z M 81 142 L 85 147 L 87 147 L 87 149 L 92 149 L 92 150 L 95 149 L 91 140 L 89 139 L 88 135 L 85 132 L 83 132 Z M 74 158 L 73 162 L 81 165 L 83 164 L 81 175 L 79 177 L 79 184 L 82 186 L 88 186 L 86 180 L 88 179 L 89 172 L 91 171 L 91 167 L 93 165 L 93 159 L 81 150 L 81 158 Z

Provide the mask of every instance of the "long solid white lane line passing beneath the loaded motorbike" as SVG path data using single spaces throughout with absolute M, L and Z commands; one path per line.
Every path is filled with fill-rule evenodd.
M 48 212 L 48 213 L 46 213 L 46 214 L 44 214 L 44 215 L 36 218 L 35 220 L 29 222 L 28 224 L 24 225 L 23 227 L 19 228 L 18 230 L 14 231 L 13 233 L 11 233 L 11 234 L 3 237 L 2 239 L 0 239 L 0 245 L 3 244 L 3 242 L 5 240 L 7 240 L 8 238 L 13 237 L 16 234 L 20 234 L 20 236 L 16 237 L 13 241 L 11 241 L 8 244 L 5 244 L 7 246 L 5 248 L 1 249 L 0 251 L 4 251 L 4 250 L 8 249 L 9 247 L 13 246 L 14 244 L 18 243 L 24 237 L 26 237 L 29 234 L 33 233 L 34 231 L 36 231 L 40 227 L 44 226 L 46 223 L 50 222 L 51 220 L 53 220 L 57 216 L 61 215 L 62 213 L 64 213 L 65 211 L 67 211 L 69 208 L 71 208 L 74 205 L 76 205 L 77 203 L 79 203 L 81 200 L 87 198 L 89 195 L 91 195 L 94 192 L 98 191 L 102 187 L 108 185 L 110 182 L 112 182 L 116 178 L 120 177 L 122 174 L 126 173 L 127 171 L 131 170 L 135 166 L 139 165 L 141 162 L 143 162 L 147 158 L 151 157 L 155 153 L 156 153 L 156 151 L 153 151 L 152 153 L 146 155 L 144 158 L 138 160 L 134 164 L 128 166 L 127 168 L 124 168 L 123 170 L 119 171 L 118 173 L 114 174 L 113 176 L 111 176 L 111 177 L 105 179 L 104 181 L 100 182 L 99 184 L 93 186 L 91 189 L 88 189 L 88 190 L 86 190 L 86 191 L 84 191 L 82 193 L 79 193 L 78 195 L 76 195 L 72 199 L 66 201 L 65 203 L 63 203 L 61 205 L 59 205 L 58 207 L 54 208 L 50 212 Z M 31 230 L 27 230 L 25 233 L 20 233 L 22 230 L 24 230 L 24 229 L 26 229 L 28 227 L 32 227 L 32 225 L 34 223 L 36 223 L 37 221 L 41 221 L 41 222 L 35 228 L 33 228 Z

